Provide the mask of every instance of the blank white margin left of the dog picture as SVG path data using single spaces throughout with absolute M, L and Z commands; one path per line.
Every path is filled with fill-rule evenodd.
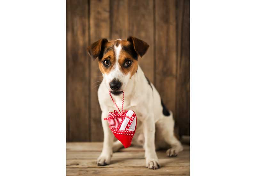
M 0 3 L 0 175 L 66 175 L 66 2 Z

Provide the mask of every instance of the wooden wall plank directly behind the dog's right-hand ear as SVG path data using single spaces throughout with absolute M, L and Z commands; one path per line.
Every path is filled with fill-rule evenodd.
M 139 65 L 144 74 L 154 81 L 154 18 L 152 0 L 129 1 L 129 35 L 149 44 L 147 53 L 139 58 Z

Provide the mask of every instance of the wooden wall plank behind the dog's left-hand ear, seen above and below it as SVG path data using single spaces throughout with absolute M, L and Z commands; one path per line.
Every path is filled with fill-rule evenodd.
M 90 36 L 91 43 L 110 37 L 110 4 L 109 1 L 93 0 L 90 4 Z M 98 101 L 98 88 L 102 80 L 98 61 L 91 59 L 91 141 L 103 141 L 101 125 L 101 109 Z

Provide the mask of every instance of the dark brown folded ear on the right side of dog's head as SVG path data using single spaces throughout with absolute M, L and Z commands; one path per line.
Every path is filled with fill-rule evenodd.
M 149 45 L 138 38 L 129 36 L 127 41 L 133 44 L 134 50 L 140 55 L 140 57 L 142 57 L 148 51 Z

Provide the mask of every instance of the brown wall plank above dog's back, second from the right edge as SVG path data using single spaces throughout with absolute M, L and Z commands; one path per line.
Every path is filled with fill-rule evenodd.
M 176 1 L 156 1 L 156 89 L 174 118 L 177 78 Z

